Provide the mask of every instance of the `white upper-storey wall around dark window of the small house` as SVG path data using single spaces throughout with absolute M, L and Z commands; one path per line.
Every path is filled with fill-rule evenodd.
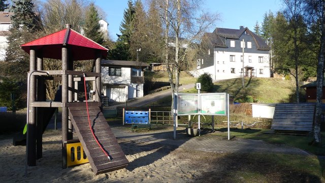
M 121 68 L 121 76 L 109 76 L 109 67 L 102 67 L 102 83 L 103 84 L 130 84 L 131 68 Z

